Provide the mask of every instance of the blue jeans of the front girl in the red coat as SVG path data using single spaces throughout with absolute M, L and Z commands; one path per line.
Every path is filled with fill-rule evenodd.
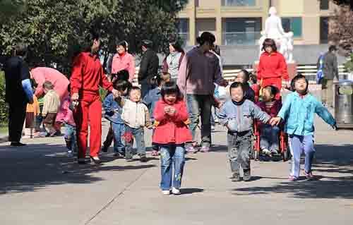
M 162 188 L 162 190 L 170 190 L 171 187 L 179 189 L 181 187 L 184 165 L 184 147 L 160 147 L 160 172 L 162 176 L 160 188 Z

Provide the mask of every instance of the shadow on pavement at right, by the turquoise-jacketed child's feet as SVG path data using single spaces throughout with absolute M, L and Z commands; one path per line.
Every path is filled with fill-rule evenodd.
M 353 199 L 353 145 L 316 145 L 316 151 L 313 165 L 313 173 L 317 175 L 316 181 L 305 181 L 302 177 L 301 181 L 283 181 L 275 186 L 236 188 L 233 194 L 285 193 L 289 197 L 297 198 Z

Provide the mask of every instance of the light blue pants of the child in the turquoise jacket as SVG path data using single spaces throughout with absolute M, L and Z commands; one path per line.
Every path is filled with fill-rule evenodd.
M 290 175 L 299 178 L 300 157 L 303 152 L 305 154 L 304 169 L 306 173 L 310 173 L 311 165 L 313 164 L 313 155 L 315 154 L 313 135 L 289 135 L 289 148 L 293 156 Z

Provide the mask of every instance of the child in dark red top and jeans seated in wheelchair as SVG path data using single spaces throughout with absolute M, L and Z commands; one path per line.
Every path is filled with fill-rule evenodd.
M 266 86 L 263 88 L 262 102 L 258 102 L 257 105 L 262 111 L 265 111 L 271 117 L 277 116 L 278 112 L 282 107 L 282 102 L 275 99 L 275 96 L 279 90 L 275 86 Z M 261 142 L 260 147 L 264 154 L 272 156 L 278 154 L 279 146 L 279 134 L 280 128 L 278 126 L 270 126 L 270 124 L 259 123 L 259 130 L 261 130 Z

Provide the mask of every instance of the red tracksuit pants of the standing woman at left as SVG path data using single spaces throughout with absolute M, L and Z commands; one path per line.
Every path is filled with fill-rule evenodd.
M 74 111 L 78 140 L 78 157 L 84 158 L 88 147 L 88 123 L 90 123 L 90 156 L 100 153 L 102 141 L 102 102 L 100 95 L 83 93 Z

